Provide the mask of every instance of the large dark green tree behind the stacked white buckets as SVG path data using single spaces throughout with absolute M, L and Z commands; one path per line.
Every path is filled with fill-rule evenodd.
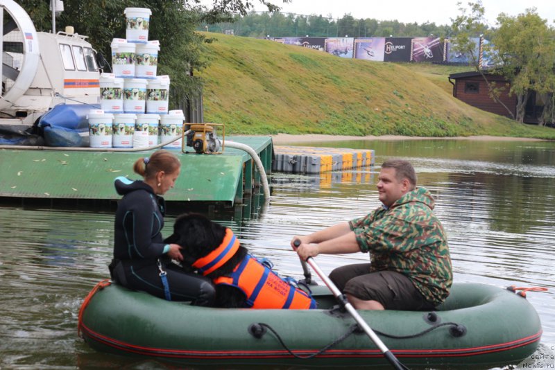
M 269 11 L 279 10 L 273 3 L 258 1 Z M 31 16 L 37 30 L 51 30 L 50 0 L 19 0 L 18 3 Z M 210 39 L 196 33 L 196 26 L 203 21 L 229 21 L 234 13 L 246 15 L 253 6 L 253 0 L 213 0 L 210 7 L 200 5 L 199 0 L 65 0 L 64 12 L 56 26 L 58 29 L 74 26 L 76 33 L 87 35 L 93 48 L 107 56 L 112 54 L 112 39 L 126 37 L 125 8 L 150 9 L 148 39 L 160 41 L 157 74 L 170 76 L 170 104 L 183 107 L 185 100 L 200 94 L 202 81 L 194 76 L 195 71 L 208 65 L 203 54 L 204 42 Z

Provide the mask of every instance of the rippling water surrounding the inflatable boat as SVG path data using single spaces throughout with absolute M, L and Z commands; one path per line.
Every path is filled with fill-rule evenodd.
M 303 143 L 303 146 L 307 144 Z M 436 197 L 436 214 L 447 231 L 456 281 L 498 286 L 537 285 L 530 293 L 543 322 L 543 347 L 555 344 L 555 143 L 472 141 L 349 141 L 318 146 L 370 148 L 375 168 L 326 175 L 271 175 L 271 204 L 250 195 L 234 209 L 205 212 L 278 272 L 302 278 L 289 241 L 379 206 L 379 164 L 404 157 L 418 181 Z M 171 231 L 179 207 L 167 217 Z M 0 368 L 166 369 L 95 353 L 76 337 L 80 302 L 108 276 L 113 209 L 80 210 L 0 204 Z M 364 254 L 319 256 L 330 272 Z M 510 308 L 506 308 L 509 310 Z

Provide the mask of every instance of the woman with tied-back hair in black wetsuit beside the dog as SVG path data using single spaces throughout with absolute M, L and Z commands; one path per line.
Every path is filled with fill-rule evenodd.
M 158 150 L 150 158 L 139 158 L 133 170 L 144 180 L 115 179 L 123 198 L 118 204 L 114 225 L 112 280 L 133 290 L 144 290 L 171 301 L 191 301 L 196 306 L 212 306 L 215 290 L 210 279 L 185 272 L 171 259 L 182 261 L 181 247 L 164 243 L 164 195 L 173 188 L 181 164 L 176 155 Z

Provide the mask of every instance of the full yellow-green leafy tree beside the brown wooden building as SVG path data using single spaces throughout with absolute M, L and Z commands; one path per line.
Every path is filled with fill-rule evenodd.
M 555 30 L 535 8 L 516 17 L 501 13 L 497 24 L 499 28 L 491 40 L 494 62 L 499 73 L 511 82 L 510 93 L 517 97 L 516 120 L 522 123 L 531 91 L 555 91 Z

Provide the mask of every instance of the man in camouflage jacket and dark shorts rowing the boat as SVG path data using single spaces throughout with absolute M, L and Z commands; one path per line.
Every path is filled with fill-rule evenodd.
M 416 188 L 408 161 L 382 165 L 377 184 L 382 206 L 368 215 L 291 240 L 303 259 L 320 253 L 370 252 L 370 263 L 336 268 L 330 279 L 358 309 L 431 310 L 452 284 L 449 247 L 434 199 Z M 299 239 L 299 247 L 293 241 Z

